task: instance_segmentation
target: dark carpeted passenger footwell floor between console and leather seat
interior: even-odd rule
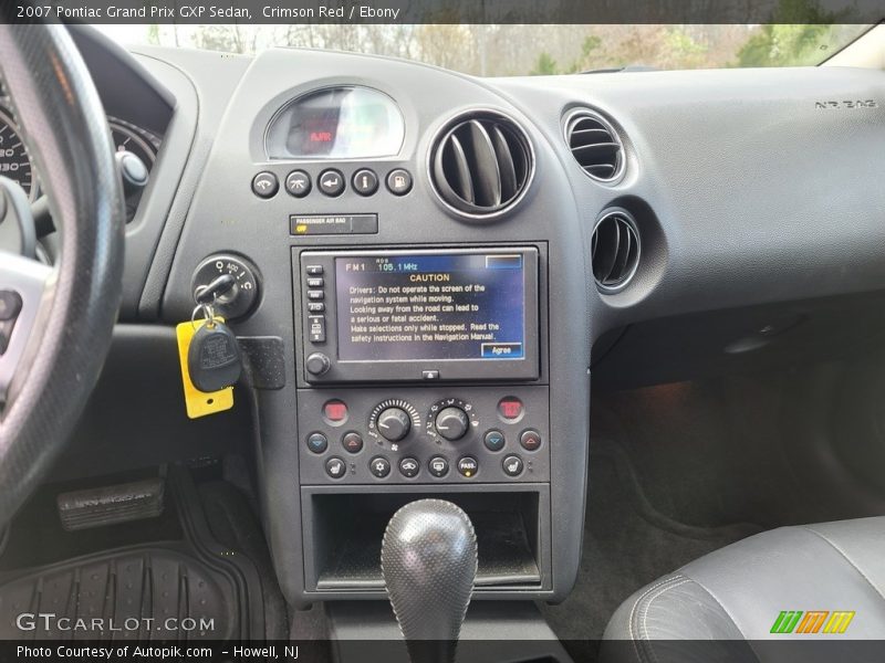
[[[629,594],[758,532],[820,519],[781,450],[777,380],[666,385],[596,397],[584,548],[571,596],[542,606],[592,661]],[[816,517],[815,517],[816,516]]]

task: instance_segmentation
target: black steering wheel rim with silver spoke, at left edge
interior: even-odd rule
[[[67,30],[0,8],[0,78],[61,234],[56,265],[0,252],[0,527],[72,432],[111,347],[125,212],[105,113]],[[10,313],[11,312],[11,313]]]

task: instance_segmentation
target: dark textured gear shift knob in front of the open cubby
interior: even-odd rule
[[[451,663],[477,575],[477,537],[451,502],[397,511],[381,548],[387,596],[412,663]]]

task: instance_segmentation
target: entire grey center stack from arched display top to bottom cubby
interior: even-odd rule
[[[548,129],[485,84],[342,53],[262,53],[229,99],[163,311],[187,319],[204,270],[248,295],[219,311],[291,604],[385,599],[385,526],[428,496],[473,524],[475,598],[568,596],[589,248]]]

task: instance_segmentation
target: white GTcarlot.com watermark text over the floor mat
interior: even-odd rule
[[[101,617],[70,618],[58,617],[54,612],[22,612],[15,618],[15,625],[20,631],[61,631],[82,633],[119,633],[119,632],[149,632],[149,631],[197,631],[208,633],[215,631],[215,618],[185,617],[178,619],[154,619],[129,617],[124,620],[105,619]]]

